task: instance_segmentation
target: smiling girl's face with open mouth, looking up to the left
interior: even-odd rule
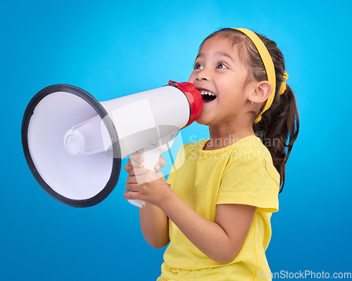
[[[218,35],[207,39],[189,77],[203,96],[203,113],[197,122],[208,126],[239,122],[251,104],[253,87],[247,81],[248,74],[239,60],[237,45]]]

